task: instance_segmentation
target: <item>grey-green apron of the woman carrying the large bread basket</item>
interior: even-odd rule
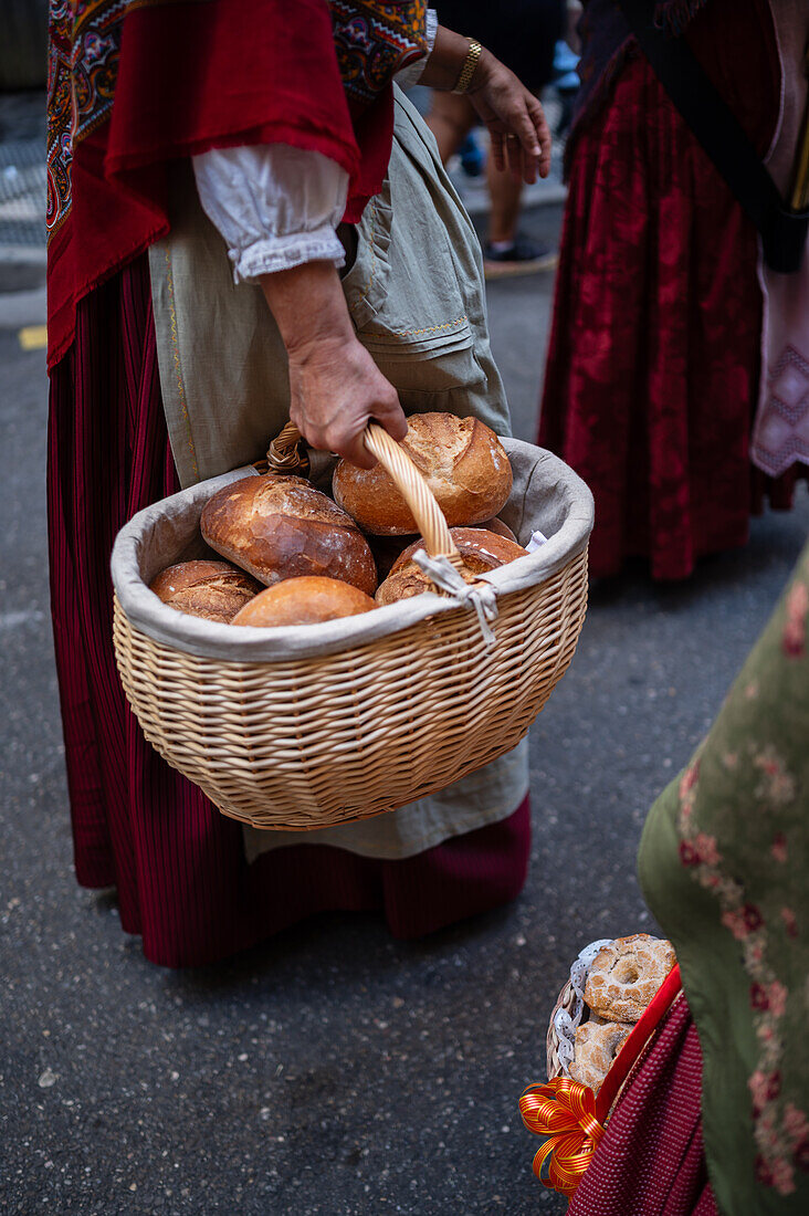
[[[170,235],[150,250],[150,269],[165,420],[185,488],[260,458],[288,421],[290,387],[264,295],[254,285],[234,283],[187,163],[174,174],[170,219]],[[489,348],[478,240],[432,135],[398,89],[388,176],[355,236],[345,299],[359,339],[405,413],[472,415],[511,434]],[[505,818],[527,790],[523,741],[440,794],[375,820],[307,833],[246,828],[246,851],[253,860],[305,841],[408,857]]]

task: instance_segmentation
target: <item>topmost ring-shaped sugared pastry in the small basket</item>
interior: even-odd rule
[[[635,933],[596,955],[584,1000],[608,1021],[637,1021],[676,963],[670,941]]]

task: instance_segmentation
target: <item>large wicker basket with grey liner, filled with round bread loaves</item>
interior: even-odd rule
[[[584,483],[478,420],[408,421],[401,444],[369,424],[372,469],[310,461],[290,424],[266,472],[201,482],[118,535],[124,691],[225,815],[313,829],[443,789],[519,742],[573,657]]]

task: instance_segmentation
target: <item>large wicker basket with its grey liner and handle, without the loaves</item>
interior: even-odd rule
[[[375,424],[366,443],[421,525],[429,556],[459,561],[410,458]],[[592,497],[549,452],[502,440],[515,490],[501,513],[535,553],[487,575],[499,609],[425,595],[297,629],[219,625],[148,590],[200,556],[207,500],[252,467],[147,507],[112,557],[116,658],[146,738],[224,815],[302,831],[366,818],[444,789],[513,748],[566,671],[586,607]],[[489,593],[490,595],[490,593]]]

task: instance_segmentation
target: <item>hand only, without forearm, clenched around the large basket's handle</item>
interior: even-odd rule
[[[292,347],[290,417],[313,447],[360,468],[376,465],[363,443],[370,418],[394,439],[408,434],[397,390],[354,334]]]

